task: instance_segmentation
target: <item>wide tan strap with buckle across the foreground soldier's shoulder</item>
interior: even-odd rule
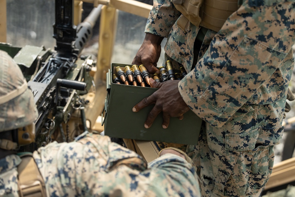
[[[17,167],[19,178],[19,196],[39,197],[46,196],[45,183],[35,163],[32,154],[21,156],[22,162]]]

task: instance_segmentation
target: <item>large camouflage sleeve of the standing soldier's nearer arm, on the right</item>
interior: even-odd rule
[[[191,110],[222,126],[281,67],[295,41],[294,18],[291,2],[244,1],[178,84]]]

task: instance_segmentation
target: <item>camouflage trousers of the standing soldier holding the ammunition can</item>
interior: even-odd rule
[[[283,71],[282,78],[289,80],[293,68],[291,50],[277,69],[277,76]],[[258,89],[222,127],[203,122],[196,146],[158,145],[186,150],[198,168],[202,196],[260,196],[273,170],[274,145],[280,143],[283,134],[286,95],[280,92],[287,88],[281,86],[276,100],[261,98],[262,90]]]

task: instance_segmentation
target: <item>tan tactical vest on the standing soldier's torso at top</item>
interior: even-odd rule
[[[176,9],[192,24],[216,32],[220,30],[227,18],[238,9],[238,0],[172,0],[172,2]],[[184,24],[184,21],[181,23]]]

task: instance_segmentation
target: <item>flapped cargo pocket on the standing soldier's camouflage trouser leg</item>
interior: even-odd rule
[[[243,134],[225,134],[225,151],[214,193],[249,196],[261,191],[273,167],[273,146],[280,143],[283,127],[257,128]]]

